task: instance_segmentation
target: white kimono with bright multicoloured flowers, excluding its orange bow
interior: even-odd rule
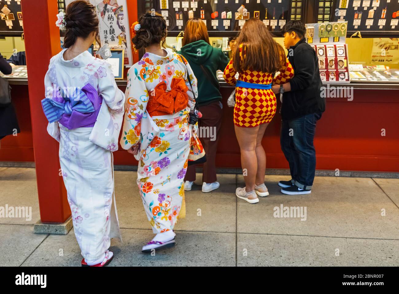
[[[187,60],[167,52],[165,57],[146,53],[130,68],[120,140],[124,149],[140,144],[135,156],[139,161],[137,185],[154,233],[173,230],[182,209],[192,131],[188,118],[195,104],[193,91],[197,97],[197,79]],[[150,117],[146,111],[149,92],[160,82],[166,82],[166,91],[170,91],[172,78],[186,81],[188,106],[174,114]]]

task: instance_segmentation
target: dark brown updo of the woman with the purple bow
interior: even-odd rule
[[[67,6],[65,11],[65,37],[64,48],[69,48],[75,44],[76,39],[87,38],[91,32],[96,32],[96,41],[100,43],[98,36],[99,19],[95,7],[85,0],[76,0]]]

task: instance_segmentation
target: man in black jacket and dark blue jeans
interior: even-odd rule
[[[306,43],[304,24],[291,20],[282,32],[294,77],[288,83],[272,88],[275,94],[283,94],[280,144],[291,173],[291,180],[280,181],[279,186],[284,194],[310,194],[316,170],[314,132],[316,122],[326,108],[326,99],[320,95],[322,81],[318,58]]]

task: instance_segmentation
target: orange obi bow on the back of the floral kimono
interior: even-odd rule
[[[188,104],[186,94],[188,87],[182,78],[173,78],[170,91],[166,91],[166,83],[160,82],[155,87],[155,96],[150,96],[147,111],[150,116],[176,113]],[[151,91],[150,91],[151,92]]]

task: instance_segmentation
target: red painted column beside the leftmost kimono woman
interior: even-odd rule
[[[57,1],[21,3],[40,219],[42,222],[64,222],[71,216],[71,210],[59,175],[59,144],[47,134],[47,119],[40,103],[45,98],[44,76],[49,60],[61,51],[59,29],[55,26]]]

